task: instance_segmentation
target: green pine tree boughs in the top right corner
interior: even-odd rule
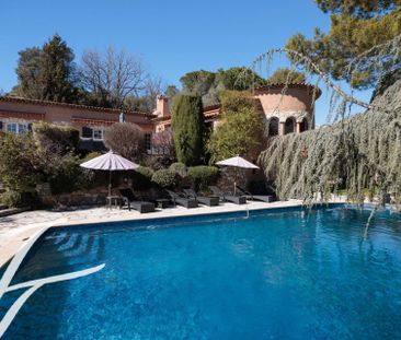
[[[287,48],[308,56],[334,79],[359,89],[374,86],[383,73],[400,67],[400,51],[381,48],[377,49],[380,55],[370,52],[369,61],[353,65],[353,72],[348,70],[356,57],[401,34],[400,0],[317,0],[317,3],[332,13],[329,33],[316,28],[312,39],[297,34],[287,42]],[[375,58],[381,60],[380,67],[370,62]]]

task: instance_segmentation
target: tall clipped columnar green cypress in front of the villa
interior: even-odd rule
[[[179,162],[197,165],[204,159],[205,120],[202,97],[180,94],[172,105],[172,129]]]

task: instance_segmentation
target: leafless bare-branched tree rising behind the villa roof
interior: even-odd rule
[[[90,50],[83,55],[80,80],[96,105],[122,108],[128,96],[144,91],[148,73],[139,58],[110,47],[105,54]]]

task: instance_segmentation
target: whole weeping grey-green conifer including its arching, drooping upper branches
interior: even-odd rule
[[[375,46],[352,60],[347,68],[350,77],[353,68],[357,73],[374,72],[373,79],[381,77],[370,104],[345,93],[316,62],[298,51],[271,49],[253,61],[255,71],[264,62],[268,68],[274,54],[286,54],[294,68],[302,66],[307,74],[318,74],[318,82],[322,80],[332,93],[328,119],[334,114],[335,124],[270,139],[260,155],[259,161],[267,177],[275,180],[280,199],[299,198],[312,204],[342,189],[353,202],[362,203],[368,198],[383,203],[390,194],[393,203],[401,204],[400,43],[401,36]],[[386,79],[387,75],[391,77]],[[285,84],[283,96],[287,87]],[[351,117],[352,105],[367,112]]]

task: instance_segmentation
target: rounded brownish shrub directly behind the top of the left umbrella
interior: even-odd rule
[[[145,151],[145,134],[136,124],[117,122],[106,129],[104,144],[128,160],[138,160]]]

